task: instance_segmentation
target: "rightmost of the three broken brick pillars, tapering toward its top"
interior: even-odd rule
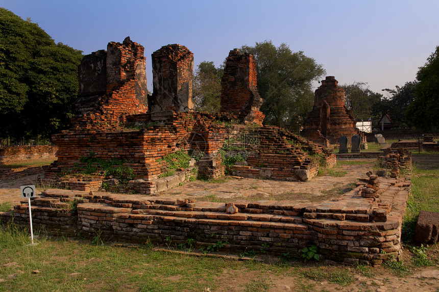
[[[261,105],[253,55],[241,54],[238,49],[231,50],[221,80],[220,112],[240,113],[243,122],[261,124],[264,119],[259,111]]]

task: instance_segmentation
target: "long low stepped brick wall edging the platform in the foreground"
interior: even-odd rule
[[[50,234],[163,244],[197,238],[198,246],[222,241],[222,251],[264,249],[274,255],[316,244],[324,258],[381,264],[401,255],[401,225],[410,188],[404,178],[380,177],[376,195],[364,197],[365,178],[337,200],[194,202],[176,198],[46,190],[32,201],[36,228]],[[370,187],[366,187],[370,188]],[[362,192],[363,191],[363,192]],[[66,204],[78,200],[77,214]],[[0,220],[26,225],[27,201]],[[232,210],[232,211],[230,211]],[[74,215],[73,215],[74,214]]]

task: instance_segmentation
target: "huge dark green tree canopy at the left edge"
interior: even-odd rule
[[[0,8],[0,138],[48,138],[68,125],[81,53]]]

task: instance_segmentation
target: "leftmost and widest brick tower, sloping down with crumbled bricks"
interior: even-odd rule
[[[143,49],[127,37],[123,43],[109,42],[107,50],[84,56],[78,67],[74,127],[111,128],[124,122],[126,115],[148,111]]]

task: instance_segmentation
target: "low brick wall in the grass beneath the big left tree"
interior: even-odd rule
[[[0,165],[11,164],[16,161],[26,160],[56,160],[57,146],[16,146],[0,148]]]

